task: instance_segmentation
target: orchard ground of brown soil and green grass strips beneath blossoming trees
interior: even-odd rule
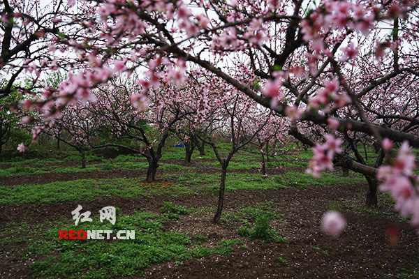
[[[65,150],[6,156],[0,278],[419,278],[418,236],[391,197],[380,194],[378,207],[366,208],[362,176],[335,169],[314,179],[304,174],[310,157],[300,150],[271,158],[264,179],[259,156],[238,153],[214,225],[221,167],[210,151],[184,165],[184,149],[167,147],[154,183],[145,183],[140,156],[92,152],[86,169]],[[93,222],[74,225],[78,204]],[[99,222],[105,206],[118,208],[115,225]],[[330,209],[348,222],[337,239],[320,227]],[[260,216],[270,220],[271,241],[251,237]],[[394,224],[401,235],[390,245]],[[66,241],[60,229],[133,229],[135,240]]]

